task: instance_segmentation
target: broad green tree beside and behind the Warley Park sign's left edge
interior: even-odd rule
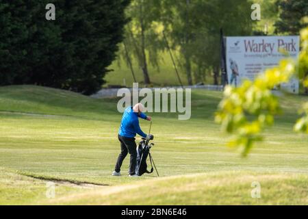
[[[227,36],[251,34],[251,3],[247,0],[181,0],[162,1],[166,33],[173,49],[181,54],[181,65],[188,83],[202,78],[205,72],[214,72],[218,84],[220,28]]]

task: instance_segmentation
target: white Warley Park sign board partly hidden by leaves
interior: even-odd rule
[[[227,75],[229,84],[238,86],[244,79],[254,80],[259,73],[279,64],[287,51],[294,59],[299,53],[299,36],[227,37]],[[299,81],[292,78],[281,84],[287,92],[298,94]]]

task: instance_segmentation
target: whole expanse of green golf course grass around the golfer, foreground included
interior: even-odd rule
[[[242,158],[225,146],[228,136],[213,122],[221,96],[194,91],[187,121],[177,120],[177,114],[152,114],[152,155],[161,177],[131,179],[129,159],[123,177],[110,176],[120,151],[116,99],[2,87],[0,204],[307,205],[308,137],[292,132],[307,97],[283,97],[285,114]],[[149,122],[140,125],[149,129]],[[55,198],[45,196],[47,181],[57,185]],[[253,181],[261,183],[258,200],[251,198]]]

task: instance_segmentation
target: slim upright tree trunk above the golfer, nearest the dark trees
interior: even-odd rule
[[[142,3],[140,3],[140,25],[141,25],[141,53],[142,53],[142,73],[144,76],[144,84],[151,83],[148,71],[148,64],[146,62],[146,50],[145,50],[145,36],[144,36],[144,21],[143,21],[143,7]]]

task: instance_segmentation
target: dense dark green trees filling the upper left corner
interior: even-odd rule
[[[55,21],[45,6],[55,4]],[[0,1],[0,83],[38,84],[91,94],[123,40],[121,1]]]

